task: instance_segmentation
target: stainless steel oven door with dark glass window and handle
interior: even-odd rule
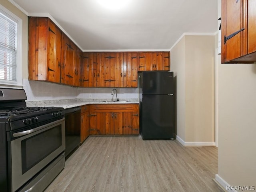
[[[11,180],[16,191],[65,150],[65,118],[12,134]]]

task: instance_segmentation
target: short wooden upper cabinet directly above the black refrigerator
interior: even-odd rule
[[[139,52],[138,71],[170,70],[170,52]]]

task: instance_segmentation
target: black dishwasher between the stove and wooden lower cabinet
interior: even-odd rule
[[[66,157],[80,145],[81,108],[65,109]]]

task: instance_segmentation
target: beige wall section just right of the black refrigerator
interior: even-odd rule
[[[184,35],[172,48],[177,79],[177,138],[185,146],[214,145],[213,35]]]

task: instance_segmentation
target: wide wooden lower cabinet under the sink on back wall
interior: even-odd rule
[[[90,105],[90,135],[138,134],[138,104]]]

